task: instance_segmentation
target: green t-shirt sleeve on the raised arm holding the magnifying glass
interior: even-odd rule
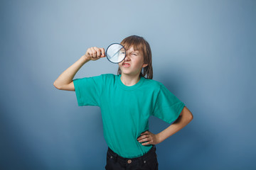
[[[85,77],[73,80],[78,106],[100,106],[103,77]]]

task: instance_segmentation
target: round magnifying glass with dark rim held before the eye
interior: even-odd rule
[[[126,56],[126,50],[124,49],[124,46],[113,43],[109,47],[107,47],[106,50],[107,60],[109,60],[112,63],[119,63],[124,60]]]

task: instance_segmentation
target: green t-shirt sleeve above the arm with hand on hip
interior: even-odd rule
[[[171,123],[178,118],[184,106],[182,101],[161,84],[152,115]]]

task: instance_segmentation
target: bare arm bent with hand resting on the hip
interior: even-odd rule
[[[178,118],[168,128],[159,132],[156,135],[147,130],[146,132],[143,132],[141,136],[138,137],[137,140],[139,142],[144,142],[142,143],[142,145],[159,144],[166,140],[171,135],[174,135],[176,132],[184,128],[186,125],[188,125],[188,123],[191,122],[191,120],[193,120],[193,115],[191,111],[189,111],[188,108],[186,108],[185,106],[181,111],[181,114],[178,116]]]

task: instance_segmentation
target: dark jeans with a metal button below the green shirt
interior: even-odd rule
[[[114,153],[110,147],[107,149],[107,170],[158,170],[156,146],[146,154],[136,158],[124,158]]]

